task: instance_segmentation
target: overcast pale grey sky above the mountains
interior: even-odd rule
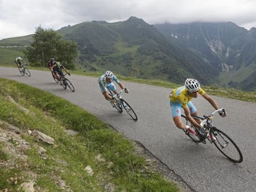
[[[255,0],[0,0],[0,40],[31,35],[36,27],[58,30],[92,20],[130,16],[148,24],[234,22],[256,27]]]

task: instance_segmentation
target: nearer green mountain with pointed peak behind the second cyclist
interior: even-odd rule
[[[218,71],[211,65],[136,17],[115,23],[84,22],[58,32],[64,39],[77,42],[79,62],[87,70],[113,70],[175,83],[187,77],[204,84],[217,81]]]

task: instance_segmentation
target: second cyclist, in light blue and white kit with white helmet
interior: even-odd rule
[[[104,75],[101,75],[98,80],[101,93],[103,94],[105,99],[107,99],[109,101],[112,100],[113,98],[108,94],[107,88],[109,88],[111,91],[113,91],[114,94],[117,93],[116,86],[114,85],[113,81],[115,81],[121,89],[125,89],[124,85],[122,85],[122,83],[117,79],[116,75],[114,75],[114,73],[109,70],[106,71],[106,73]],[[126,89],[126,90],[124,90],[124,92],[129,93],[129,90]]]

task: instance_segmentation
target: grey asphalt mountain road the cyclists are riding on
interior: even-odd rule
[[[129,88],[123,98],[134,108],[139,120],[126,112],[119,114],[100,93],[98,79],[71,75],[75,92],[56,84],[50,72],[30,70],[22,77],[17,69],[0,67],[0,77],[16,80],[61,96],[109,123],[130,140],[139,141],[166,164],[194,191],[256,191],[256,104],[213,96],[228,117],[216,116],[214,124],[226,132],[242,151],[244,161],[235,164],[213,144],[197,144],[175,127],[170,107],[169,89],[122,81]],[[200,115],[213,112],[201,96],[193,100]]]

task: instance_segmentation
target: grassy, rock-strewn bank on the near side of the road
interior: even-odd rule
[[[53,94],[0,78],[0,120],[6,123],[0,138],[7,123],[21,131],[20,140],[17,134],[7,143],[0,140],[0,191],[22,191],[25,182],[36,191],[179,191],[148,169],[129,140]],[[36,140],[28,130],[45,133],[54,144]]]

